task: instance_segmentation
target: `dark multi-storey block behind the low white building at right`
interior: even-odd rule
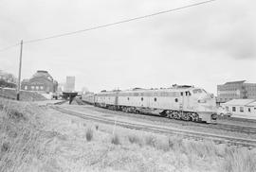
[[[232,99],[256,99],[256,83],[240,80],[217,85],[218,103],[225,103]]]

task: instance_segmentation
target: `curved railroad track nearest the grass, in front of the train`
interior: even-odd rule
[[[146,124],[133,124],[129,122],[123,122],[123,121],[115,121],[114,119],[108,119],[104,117],[99,116],[93,116],[89,114],[84,114],[82,112],[74,112],[71,110],[66,110],[61,107],[57,106],[50,106],[50,108],[58,111],[63,112],[68,115],[77,116],[86,120],[93,120],[96,122],[114,125],[116,124],[119,127],[127,128],[127,129],[139,129],[149,132],[155,132],[155,133],[163,133],[163,134],[178,134],[182,135],[188,138],[193,139],[204,139],[204,140],[211,140],[215,143],[227,143],[228,145],[232,146],[247,146],[247,147],[256,147],[256,140],[251,139],[244,139],[244,138],[238,138],[238,137],[230,137],[230,136],[224,136],[224,135],[217,135],[217,134],[210,134],[205,132],[197,132],[192,130],[184,130],[184,129],[169,129],[164,127],[156,127],[152,125],[146,125]]]

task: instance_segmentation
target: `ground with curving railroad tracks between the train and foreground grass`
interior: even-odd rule
[[[91,105],[82,105],[81,100],[75,99],[74,104],[67,105],[64,101],[60,105],[50,106],[64,114],[78,116],[85,120],[92,120],[103,124],[117,125],[122,128],[139,129],[167,135],[182,135],[194,140],[211,140],[217,144],[229,146],[256,147],[256,121],[236,121],[218,119],[216,124],[194,123],[155,116],[154,114],[135,114],[117,112]],[[81,104],[81,105],[78,105]]]

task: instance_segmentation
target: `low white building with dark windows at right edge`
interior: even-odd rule
[[[233,117],[256,118],[255,99],[232,99],[221,104],[221,107],[232,113]]]

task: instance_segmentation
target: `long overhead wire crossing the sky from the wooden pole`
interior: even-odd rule
[[[129,23],[129,22],[145,19],[145,18],[154,17],[156,15],[160,15],[160,14],[164,14],[164,13],[173,12],[175,10],[189,9],[189,8],[200,6],[200,5],[203,5],[203,4],[207,4],[207,3],[210,3],[210,2],[213,2],[213,1],[216,1],[216,0],[203,1],[203,2],[199,2],[199,3],[194,3],[194,4],[191,4],[191,5],[183,6],[183,7],[180,7],[180,8],[163,10],[163,11],[155,12],[155,13],[152,13],[152,14],[142,15],[142,16],[138,16],[138,17],[134,17],[134,18],[130,18],[130,19],[125,19],[125,20],[122,20],[122,21],[119,21],[119,22],[105,24],[105,25],[102,25],[102,26],[92,26],[92,27],[81,29],[81,30],[76,30],[76,31],[72,31],[72,32],[65,32],[65,33],[61,33],[61,34],[52,35],[52,36],[45,37],[45,38],[38,38],[38,39],[28,40],[28,41],[24,41],[24,44],[25,43],[42,42],[42,41],[49,40],[49,39],[55,39],[55,38],[59,38],[59,37],[64,37],[64,36],[68,36],[68,35],[74,35],[74,34],[86,32],[86,31],[96,30],[96,29],[99,29],[99,28],[102,28],[102,27],[116,26],[116,25],[120,25],[120,24],[124,24],[124,23]],[[12,46],[9,46],[7,48],[1,49],[0,52],[4,51],[4,50],[7,50],[7,49],[9,49],[13,46],[17,46],[17,45],[19,45],[19,43],[15,44],[15,45],[12,45]]]

